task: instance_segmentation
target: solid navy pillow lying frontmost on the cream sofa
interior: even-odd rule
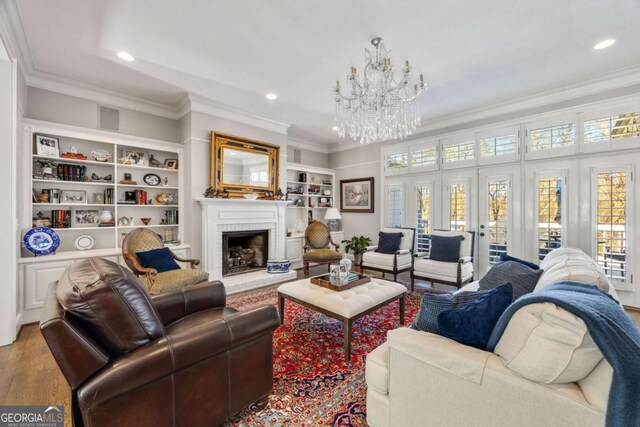
[[[462,308],[445,310],[438,315],[436,333],[461,344],[487,348],[487,343],[502,313],[511,305],[511,283],[482,294]]]

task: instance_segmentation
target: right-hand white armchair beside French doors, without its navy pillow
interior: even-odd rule
[[[460,242],[460,257],[453,262],[436,261],[426,257],[426,252],[416,253],[411,268],[411,290],[415,279],[428,280],[431,283],[461,286],[473,280],[473,248],[475,244],[474,231],[433,230],[432,236],[455,237],[462,236]]]

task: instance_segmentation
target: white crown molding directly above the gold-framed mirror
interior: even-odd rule
[[[244,123],[250,126],[255,126],[283,135],[287,134],[287,129],[289,129],[290,126],[289,123],[274,120],[260,114],[231,107],[229,105],[224,105],[212,99],[196,95],[194,93],[189,93],[188,97],[191,111],[210,114],[212,116],[221,117],[223,119],[232,120],[234,122]],[[181,102],[181,104],[185,104],[186,106],[186,101],[184,103]],[[183,106],[180,110],[185,111],[185,106]]]

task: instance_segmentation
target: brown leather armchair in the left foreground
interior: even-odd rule
[[[124,267],[78,261],[49,286],[40,330],[76,426],[215,426],[266,405],[273,306],[226,307],[220,282],[151,297]]]

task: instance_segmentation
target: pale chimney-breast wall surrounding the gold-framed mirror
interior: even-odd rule
[[[191,245],[194,258],[201,258],[202,218],[200,204],[195,198],[201,197],[209,187],[209,165],[211,159],[211,131],[237,135],[243,138],[263,141],[280,147],[280,187],[286,180],[287,136],[255,126],[223,119],[209,114],[192,111],[180,119],[180,135],[188,135],[185,142],[185,236]]]

